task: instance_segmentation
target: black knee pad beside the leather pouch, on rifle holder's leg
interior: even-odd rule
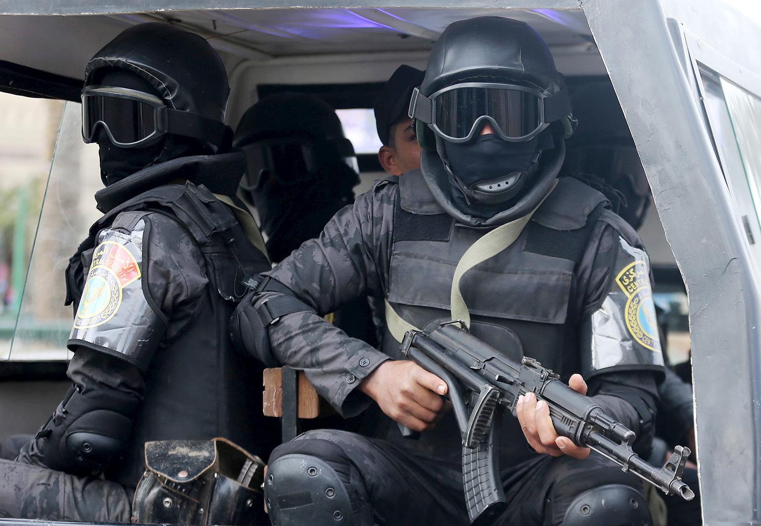
[[[264,499],[274,526],[355,526],[349,493],[316,457],[285,454],[269,464]]]

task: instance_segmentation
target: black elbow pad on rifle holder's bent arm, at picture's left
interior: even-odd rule
[[[234,347],[267,367],[282,365],[272,354],[267,332],[269,326],[278,323],[281,317],[288,314],[314,312],[314,309],[286,291],[290,292],[274,279],[266,278],[238,304],[230,319],[230,337]],[[265,296],[266,292],[270,294]]]

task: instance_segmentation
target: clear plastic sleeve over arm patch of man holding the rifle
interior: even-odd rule
[[[581,330],[582,375],[607,368],[664,365],[644,250],[619,237],[610,290]]]

